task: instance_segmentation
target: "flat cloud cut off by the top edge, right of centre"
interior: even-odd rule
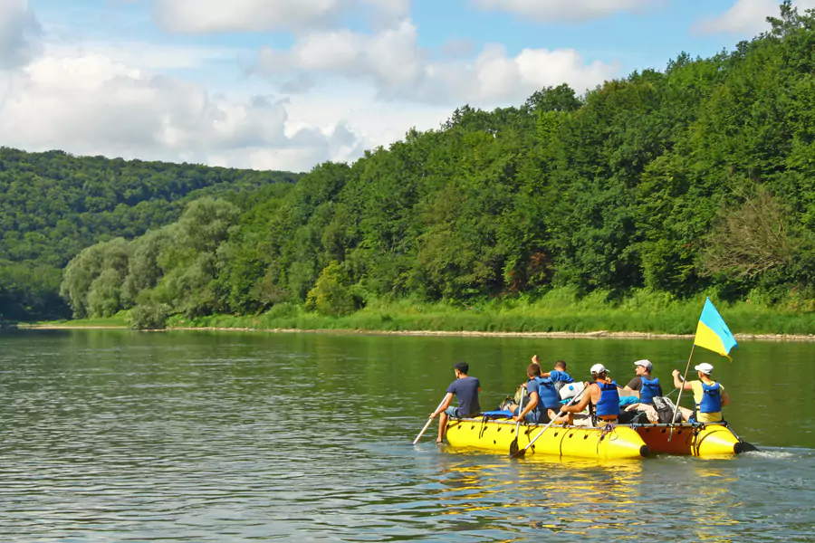
[[[484,11],[502,11],[534,21],[589,21],[637,11],[655,0],[470,0]]]

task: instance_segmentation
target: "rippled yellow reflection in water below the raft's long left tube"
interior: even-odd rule
[[[532,456],[512,460],[462,449],[440,454],[433,491],[440,514],[469,525],[479,518],[512,519],[513,525],[586,536],[618,530],[637,515],[641,461],[593,461]],[[444,456],[459,454],[460,462]],[[473,460],[479,459],[478,463]]]

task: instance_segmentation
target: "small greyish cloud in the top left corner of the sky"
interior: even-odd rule
[[[39,30],[27,0],[0,0],[0,71],[24,66],[34,56]]]

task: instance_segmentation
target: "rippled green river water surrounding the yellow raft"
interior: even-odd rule
[[[411,444],[458,360],[492,408],[534,353],[624,384],[639,358],[668,380],[690,343],[4,333],[0,540],[815,540],[815,344],[696,349],[761,450],[731,460],[511,460],[437,447],[436,424]]]

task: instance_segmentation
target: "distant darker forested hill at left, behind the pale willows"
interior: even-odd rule
[[[0,318],[70,315],[59,296],[62,268],[93,243],[172,223],[204,195],[239,202],[297,177],[0,148]]]

